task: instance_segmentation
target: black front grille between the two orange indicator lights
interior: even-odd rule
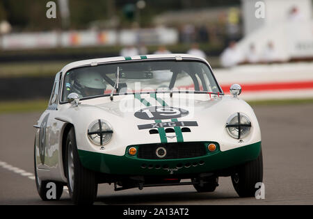
[[[166,149],[166,156],[157,156],[157,149]],[[207,154],[204,143],[166,143],[140,145],[138,147],[139,159],[186,159]],[[159,155],[163,155],[163,149],[159,149]]]

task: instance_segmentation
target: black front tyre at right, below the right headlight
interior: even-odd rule
[[[232,174],[232,185],[239,197],[255,197],[255,184],[263,180],[262,150],[254,161],[249,161],[236,168]]]

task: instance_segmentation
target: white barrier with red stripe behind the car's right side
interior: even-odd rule
[[[226,94],[239,83],[246,100],[313,98],[313,62],[242,65],[214,74]]]

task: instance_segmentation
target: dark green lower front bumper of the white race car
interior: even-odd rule
[[[214,172],[257,159],[261,141],[225,152],[217,150],[188,159],[138,159],[125,154],[115,156],[79,150],[79,158],[85,168],[113,175],[188,175]]]

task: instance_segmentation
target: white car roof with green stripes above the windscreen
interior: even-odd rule
[[[114,62],[120,62],[120,61],[129,61],[129,60],[147,60],[147,59],[161,59],[161,58],[176,58],[177,60],[184,60],[184,58],[192,58],[192,59],[198,59],[203,60],[205,63],[207,63],[207,60],[204,58],[198,57],[198,56],[191,56],[188,54],[153,54],[153,55],[144,55],[144,56],[116,56],[116,57],[109,57],[109,58],[93,58],[88,60],[80,60],[73,63],[69,63],[63,67],[61,72],[67,72],[71,70],[72,68],[76,67],[83,67],[83,66],[94,66],[99,65],[103,63],[114,63]],[[209,64],[209,63],[207,63]]]

